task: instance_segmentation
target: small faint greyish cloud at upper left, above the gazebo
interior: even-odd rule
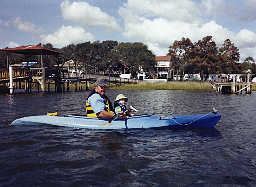
[[[16,17],[13,21],[14,27],[20,31],[27,31],[27,32],[42,32],[42,28],[36,28],[34,24],[26,21],[22,21],[22,18]]]

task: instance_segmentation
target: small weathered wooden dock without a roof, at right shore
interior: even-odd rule
[[[217,81],[209,81],[216,93],[224,93],[224,94],[240,94],[245,91],[246,94],[252,93],[252,75],[248,73],[247,75],[240,75],[238,79],[238,75],[232,74],[230,75],[218,75]]]

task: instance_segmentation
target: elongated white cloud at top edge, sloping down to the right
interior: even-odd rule
[[[119,31],[117,20],[86,2],[63,1],[60,4],[62,17],[75,21],[83,26],[102,26],[110,30]]]

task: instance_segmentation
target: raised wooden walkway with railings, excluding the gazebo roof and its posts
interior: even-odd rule
[[[75,91],[77,90],[77,83],[80,90],[82,84],[86,85],[86,90],[89,89],[90,84],[98,79],[104,80],[107,84],[110,85],[121,85],[121,84],[136,84],[139,80],[137,79],[126,79],[119,77],[111,77],[105,75],[97,74],[86,74],[86,73],[76,73],[63,71],[59,74],[57,69],[53,68],[30,68],[30,71],[27,71],[27,67],[24,68],[13,68],[13,82],[24,81],[25,90],[30,90],[31,92],[31,83],[41,84],[41,91],[45,92],[46,84],[48,84],[48,91],[50,80],[53,80],[55,83],[55,91],[65,91],[65,82],[67,85],[67,91],[69,90],[69,84],[75,84]],[[48,81],[47,81],[48,80]],[[10,82],[9,68],[0,69],[0,84],[5,84]],[[20,84],[19,84],[20,88]]]

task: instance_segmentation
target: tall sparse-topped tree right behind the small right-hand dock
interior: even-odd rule
[[[219,48],[219,54],[222,59],[220,64],[222,73],[239,73],[237,66],[240,60],[239,49],[229,39]]]

